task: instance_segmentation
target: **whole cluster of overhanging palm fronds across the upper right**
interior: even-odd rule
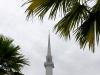
[[[68,38],[74,31],[81,48],[88,44],[89,49],[95,51],[100,34],[100,0],[28,0],[25,4],[29,4],[28,18],[37,15],[42,20],[48,11],[50,19],[56,19],[57,13],[63,14],[54,27],[56,32]]]

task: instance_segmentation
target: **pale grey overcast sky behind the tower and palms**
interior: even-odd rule
[[[26,21],[26,7],[22,0],[0,0],[0,33],[15,40],[30,66],[25,66],[25,75],[45,75],[45,56],[47,52],[48,32],[51,32],[51,49],[54,61],[53,75],[100,75],[100,46],[93,54],[84,51],[72,38],[70,41],[59,38],[52,31],[58,21],[44,22],[34,18]]]

